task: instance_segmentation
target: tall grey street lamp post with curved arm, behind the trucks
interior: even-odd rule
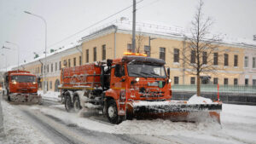
[[[44,94],[46,93],[46,89],[45,89],[45,85],[46,85],[46,72],[44,70],[44,67],[46,67],[46,63],[47,63],[47,60],[46,60],[46,49],[47,49],[47,23],[46,23],[46,20],[44,19],[44,17],[38,15],[38,14],[32,14],[31,12],[28,12],[28,11],[24,11],[24,13],[26,14],[31,14],[35,17],[38,17],[40,20],[43,20],[44,21],[44,25],[45,25],[45,49],[44,49],[44,54],[45,54],[45,57],[44,57],[44,66],[42,67],[43,68],[43,73],[42,73],[42,78],[43,78],[43,84],[44,84]],[[45,81],[45,82],[44,82]]]

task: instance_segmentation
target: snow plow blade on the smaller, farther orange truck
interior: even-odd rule
[[[41,104],[42,96],[38,94],[10,94],[10,101],[19,104]]]

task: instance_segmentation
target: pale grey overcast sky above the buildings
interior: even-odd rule
[[[139,2],[140,0],[137,0]],[[256,0],[204,0],[204,14],[212,17],[213,33],[224,33],[229,37],[253,39],[256,34]],[[132,20],[131,9],[86,30],[62,43],[63,38],[125,9],[132,0],[0,0],[0,54],[7,55],[7,65],[17,64],[15,45],[20,46],[20,62],[33,59],[33,52],[43,54],[44,22],[23,11],[44,17],[48,28],[49,49],[76,42],[80,37],[120,17]],[[188,28],[195,14],[197,0],[143,0],[137,4],[138,22],[160,22],[170,26]],[[5,67],[5,58],[0,55],[0,69]]]

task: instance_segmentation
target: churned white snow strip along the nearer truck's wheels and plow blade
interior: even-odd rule
[[[62,106],[64,109],[64,106]],[[81,113],[68,113],[49,107],[33,107],[38,111],[60,118],[67,124],[77,124],[88,130],[114,134],[175,136],[192,143],[256,143],[256,107],[223,104],[221,125],[212,119],[201,123],[172,122],[170,120],[126,120],[118,125],[99,123],[84,118]]]

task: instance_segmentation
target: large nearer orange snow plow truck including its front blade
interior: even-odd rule
[[[164,60],[126,53],[119,59],[63,68],[61,97],[69,111],[82,107],[106,114],[112,124],[126,118],[170,118],[193,121],[204,112],[219,122],[221,102],[189,104],[172,101],[170,69]]]

